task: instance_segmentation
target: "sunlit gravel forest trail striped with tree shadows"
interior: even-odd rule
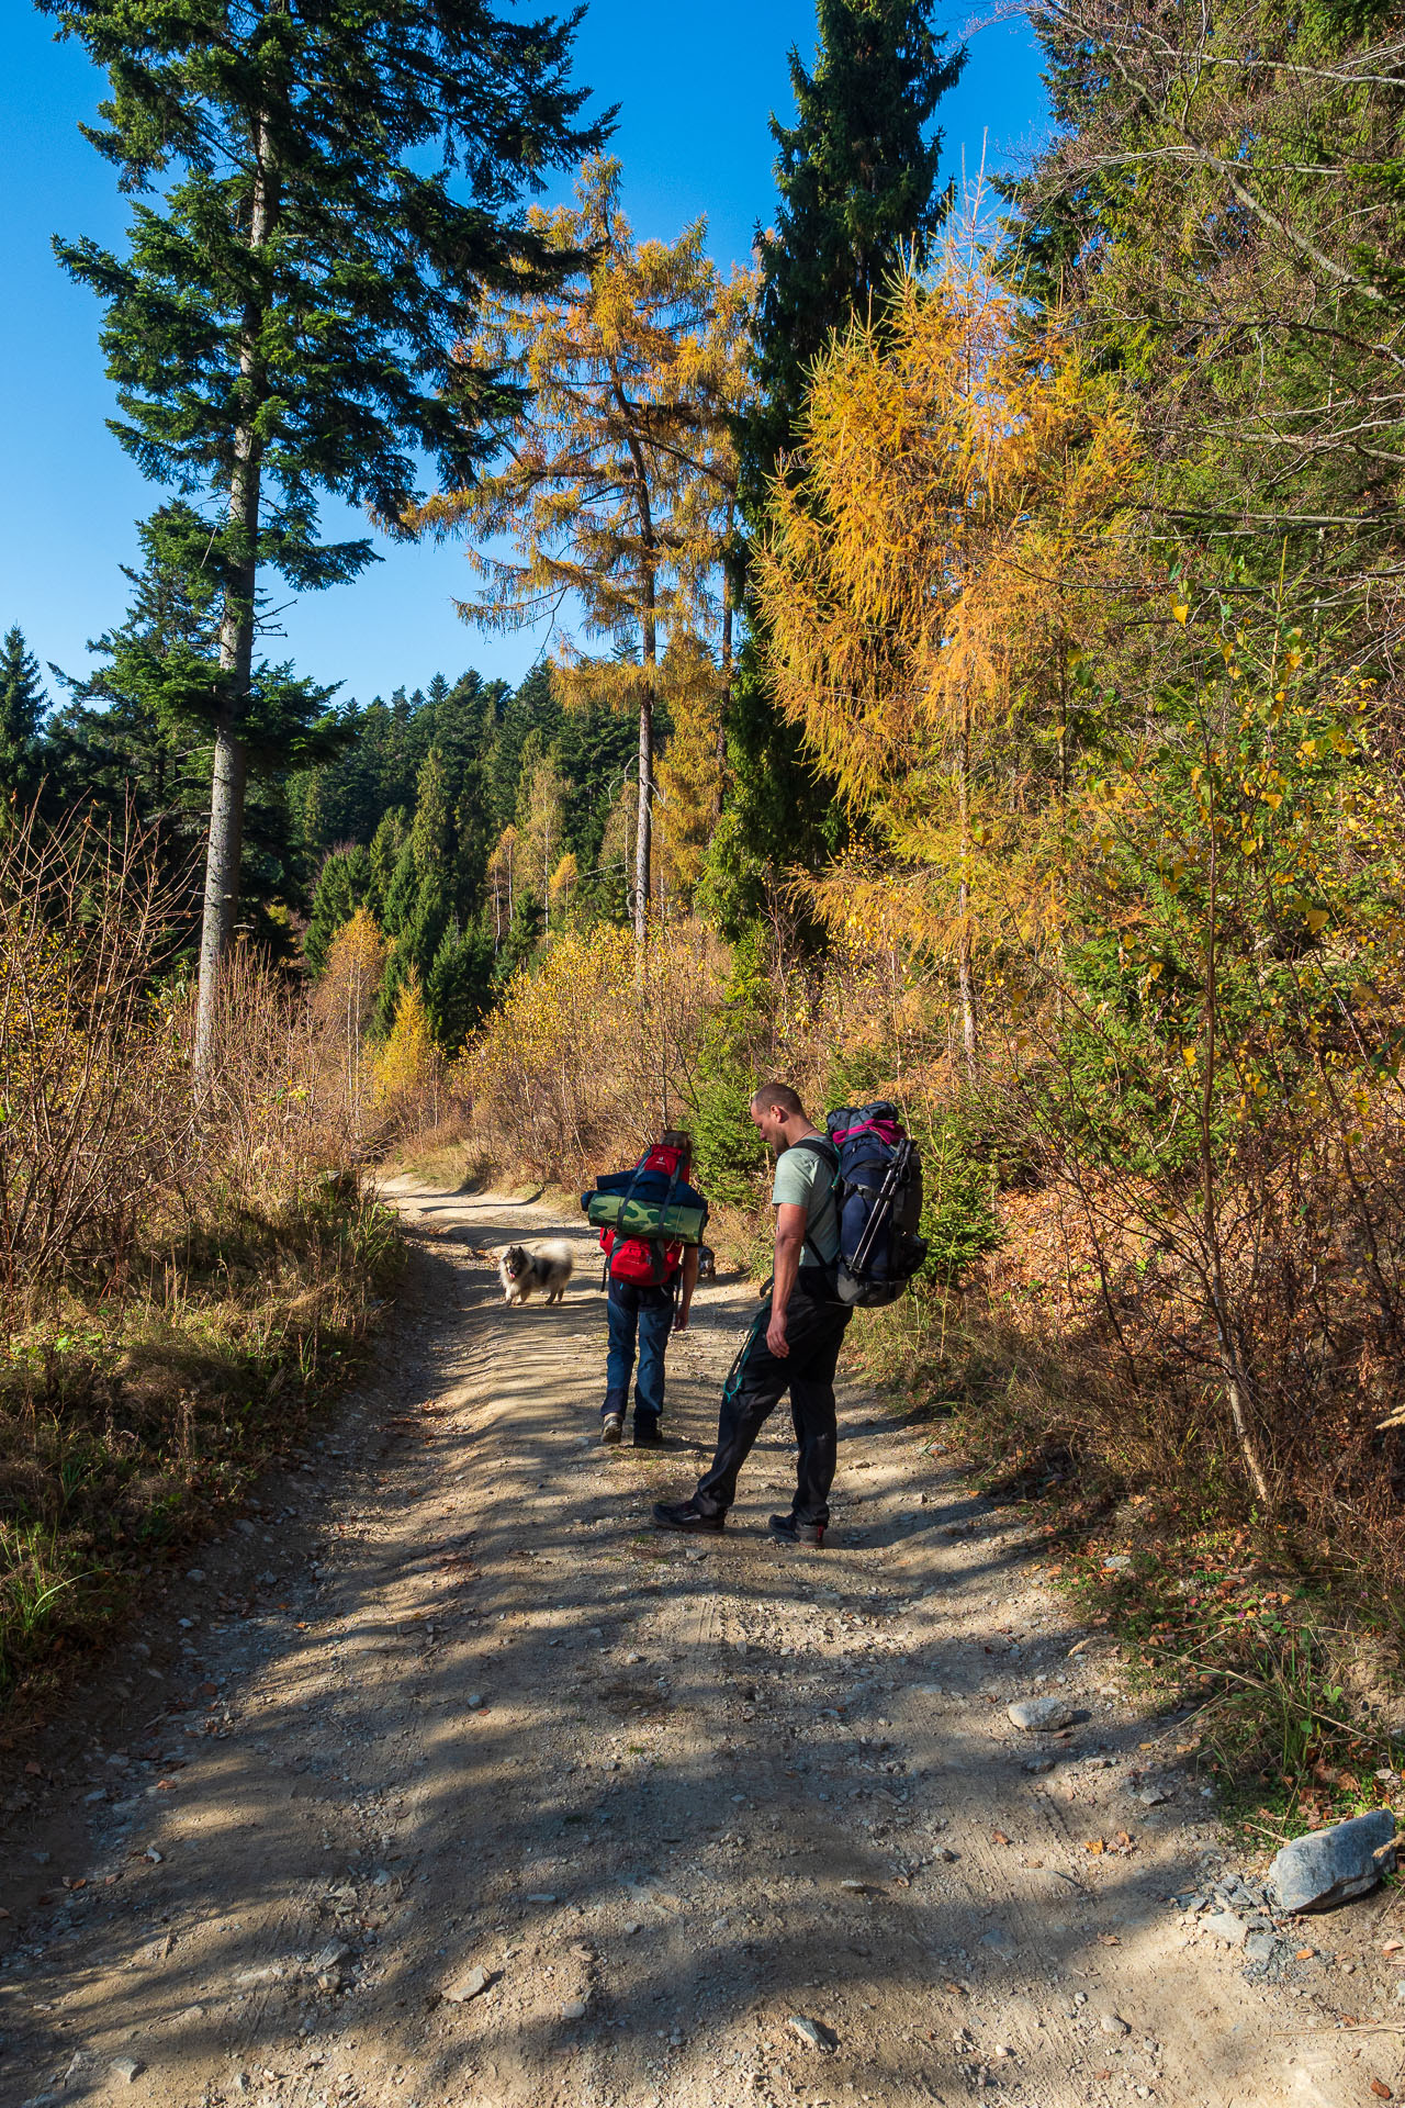
[[[1392,1899],[1281,1982],[1192,1929],[1169,1897],[1230,1861],[1175,1724],[1070,1655],[929,1425],[849,1389],[822,1554],[765,1535],[784,1414],[729,1533],[661,1537],[746,1284],[674,1341],[670,1446],[602,1450],[586,1237],[565,1307],[510,1311],[489,1248],[558,1218],[390,1191],[375,1364],[11,1794],[6,2108],[1399,2095],[1399,2032],[1340,2030]],[[1005,1710],[1045,1689],[1083,1714],[1049,1748]]]

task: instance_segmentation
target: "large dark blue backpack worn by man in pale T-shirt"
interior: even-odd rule
[[[826,1140],[811,1136],[794,1147],[813,1149],[834,1166],[834,1296],[851,1307],[878,1309],[897,1301],[927,1258],[927,1240],[918,1235],[923,1159],[887,1098],[840,1105],[826,1113],[824,1124]]]

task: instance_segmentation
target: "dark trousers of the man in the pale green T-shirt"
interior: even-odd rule
[[[716,1457],[697,1482],[693,1501],[704,1516],[725,1516],[737,1497],[737,1471],[777,1404],[790,1391],[790,1419],[800,1455],[796,1461],[796,1522],[830,1520],[830,1486],[834,1484],[834,1368],[851,1309],[824,1301],[824,1277],[800,1271],[786,1307],[786,1339],[790,1353],[777,1358],[767,1347],[771,1303],[763,1303],[746,1347],[737,1355],[723,1387],[723,1412],[716,1429]]]

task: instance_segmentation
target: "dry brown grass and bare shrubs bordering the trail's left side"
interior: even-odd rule
[[[295,1438],[398,1258],[345,1035],[244,953],[192,1088],[169,909],[137,837],[0,841],[0,1701]]]

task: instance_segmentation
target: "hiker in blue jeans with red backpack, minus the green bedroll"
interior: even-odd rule
[[[691,1136],[670,1128],[642,1157],[638,1170],[659,1172],[674,1187],[691,1193]],[[697,1197],[697,1195],[693,1195]],[[630,1404],[630,1374],[638,1343],[638,1379],[634,1383],[634,1448],[661,1448],[664,1436],[664,1353],[670,1332],[687,1332],[693,1290],[697,1288],[697,1246],[642,1237],[619,1237],[600,1231],[609,1269],[609,1353],[605,1364],[605,1404],[600,1406],[600,1440],[624,1440],[624,1417]]]

